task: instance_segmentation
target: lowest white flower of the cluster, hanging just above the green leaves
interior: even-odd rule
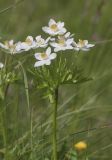
[[[35,58],[38,60],[34,67],[39,67],[43,65],[50,65],[51,60],[56,58],[56,53],[51,53],[51,48],[47,48],[45,52],[35,53]]]

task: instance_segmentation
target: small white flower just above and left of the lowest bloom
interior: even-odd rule
[[[50,37],[48,37],[46,40],[44,40],[41,35],[37,36],[35,41],[34,48],[46,48],[48,46],[48,41],[50,40]]]

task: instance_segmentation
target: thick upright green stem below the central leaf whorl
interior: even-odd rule
[[[58,103],[58,89],[54,92],[53,101],[53,160],[57,160],[57,103]]]

